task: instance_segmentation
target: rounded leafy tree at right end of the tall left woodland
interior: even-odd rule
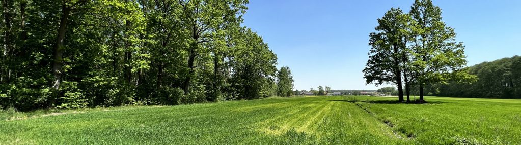
[[[231,64],[234,69],[231,87],[237,89],[240,99],[268,97],[262,91],[274,82],[277,56],[269,50],[262,37],[249,28],[241,28],[240,34]]]

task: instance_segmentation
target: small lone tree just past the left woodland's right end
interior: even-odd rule
[[[281,67],[277,73],[278,94],[282,97],[289,97],[293,90],[293,75],[289,67]]]

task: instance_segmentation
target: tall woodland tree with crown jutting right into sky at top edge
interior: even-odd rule
[[[204,56],[208,50],[202,46],[212,41],[212,33],[226,23],[241,22],[241,19],[230,19],[242,17],[245,12],[247,1],[184,1],[179,0],[183,12],[182,19],[187,22],[185,27],[190,32],[190,45],[188,47],[188,73],[183,82],[183,90],[189,93],[190,82],[195,73],[197,57]],[[215,56],[216,53],[214,53]]]

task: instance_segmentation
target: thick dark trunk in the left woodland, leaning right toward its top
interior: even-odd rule
[[[54,89],[59,89],[61,81],[61,67],[63,65],[63,53],[64,53],[64,40],[65,31],[67,30],[67,21],[69,19],[70,8],[65,4],[61,6],[61,18],[60,25],[58,27],[58,36],[56,39],[56,46],[54,47],[54,61],[53,61],[53,74],[54,74]]]

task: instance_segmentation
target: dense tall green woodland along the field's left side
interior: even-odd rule
[[[3,0],[0,108],[276,95],[277,56],[241,26],[247,2]]]

